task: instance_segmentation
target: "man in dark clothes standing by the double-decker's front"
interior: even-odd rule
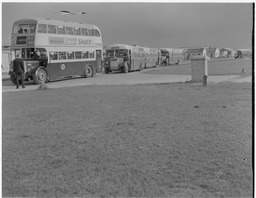
[[[24,85],[24,63],[20,59],[20,55],[17,54],[16,58],[13,60],[13,71],[16,75],[16,89],[19,89],[19,79],[21,80],[22,88],[25,88]]]

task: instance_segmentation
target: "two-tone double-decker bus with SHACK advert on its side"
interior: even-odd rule
[[[21,19],[13,24],[11,54],[12,59],[20,54],[25,80],[36,84],[73,76],[92,77],[102,71],[101,32],[92,24]],[[11,80],[16,83],[14,75]]]

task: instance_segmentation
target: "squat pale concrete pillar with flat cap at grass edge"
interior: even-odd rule
[[[205,56],[194,56],[191,57],[191,81],[192,82],[203,82],[207,84],[208,76],[208,60],[209,57]]]

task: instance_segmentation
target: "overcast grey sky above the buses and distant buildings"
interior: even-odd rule
[[[61,15],[61,10],[86,15]],[[2,42],[12,24],[43,17],[97,25],[103,45],[251,48],[252,3],[2,3]]]

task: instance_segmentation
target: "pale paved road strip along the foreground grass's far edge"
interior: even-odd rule
[[[153,68],[158,69],[158,68]],[[46,83],[47,88],[62,88],[62,87],[76,87],[87,85],[131,85],[131,84],[151,84],[151,83],[185,83],[191,80],[191,75],[158,75],[158,74],[146,74],[145,72],[130,72],[114,73],[114,74],[97,74],[93,78],[72,78],[65,80],[58,80]],[[221,76],[208,76],[208,83],[218,82],[252,82],[252,76],[248,75],[221,75]],[[16,89],[16,86],[10,81],[2,81],[2,92],[16,92],[36,90],[40,85],[34,84],[34,82],[26,83],[25,89]]]

